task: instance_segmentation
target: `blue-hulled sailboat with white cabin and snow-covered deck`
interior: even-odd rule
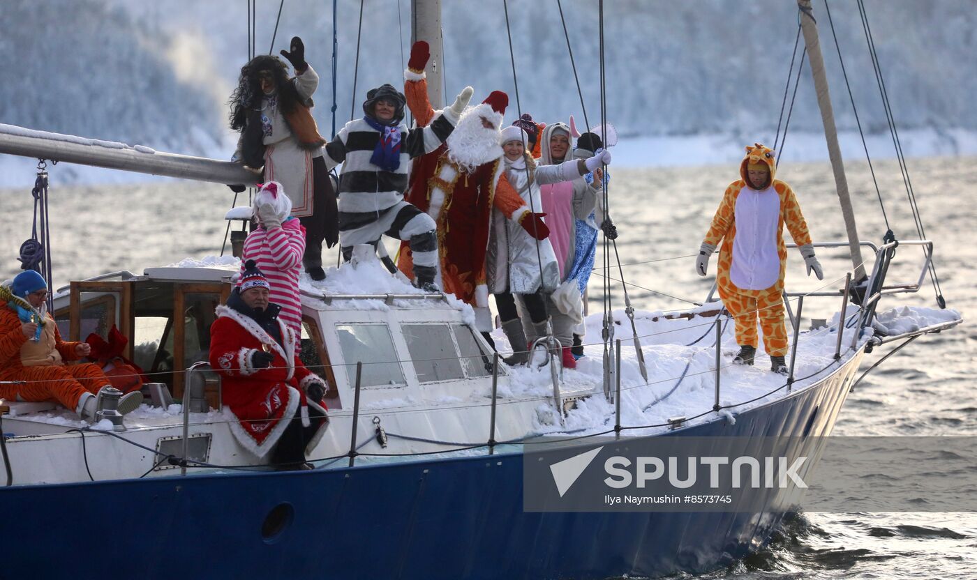
[[[418,0],[412,19],[414,39],[430,42],[434,62],[438,7]],[[364,258],[301,288],[303,359],[329,383],[329,427],[311,454],[317,469],[275,472],[235,439],[220,380],[205,362],[234,258],[75,280],[53,299],[63,333],[78,340],[115,324],[130,358],[154,343],[142,355],[155,404],[93,428],[54,404],[4,402],[6,574],[76,576],[80,567],[81,576],[138,578],[604,578],[709,570],[762,546],[794,498],[757,489],[750,501],[762,508],[751,512],[528,511],[525,461],[540,437],[581,451],[607,434],[779,436],[818,445],[873,347],[960,322],[948,314],[911,332],[873,331],[883,297],[919,291],[933,244],[859,239],[810,0],[798,7],[848,234],[820,245],[847,246],[854,275],[787,294],[796,299],[796,322],[786,381],[758,382],[723,362],[731,333],[717,301],[636,317],[633,337],[592,347],[611,353],[597,376],[563,372],[545,354],[538,368],[507,369],[475,331],[470,310]],[[10,126],[0,127],[0,152],[222,184],[254,179],[232,163]],[[922,249],[917,279],[886,280],[897,245]],[[865,249],[873,261],[863,261]],[[836,300],[840,310],[827,326],[801,332],[804,298]],[[634,379],[638,357],[622,359],[622,348],[635,339],[645,339],[639,348],[648,360],[659,345],[688,349],[714,376],[715,391],[683,394],[683,413],[662,415],[658,403],[686,374]],[[622,424],[623,401],[642,409],[646,423]],[[581,417],[583,408],[600,418]],[[101,554],[115,555],[110,568],[99,568],[93,557]]]

